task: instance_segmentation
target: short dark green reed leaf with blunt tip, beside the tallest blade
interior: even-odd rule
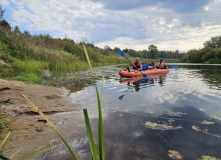
[[[89,139],[91,154],[92,154],[93,160],[97,160],[98,151],[97,151],[96,146],[94,145],[94,138],[93,138],[93,133],[91,130],[91,125],[90,125],[90,120],[88,117],[87,109],[83,109],[83,112],[84,112],[84,119],[85,119],[85,124],[86,124],[86,128],[87,128],[87,135],[88,135],[88,139]]]

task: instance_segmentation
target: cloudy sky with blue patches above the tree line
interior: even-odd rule
[[[103,48],[200,49],[221,35],[221,0],[0,0],[21,31]]]

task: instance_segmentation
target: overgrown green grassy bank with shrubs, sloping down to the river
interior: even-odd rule
[[[88,46],[87,46],[88,45]],[[88,55],[95,66],[128,64],[116,51],[101,49],[88,43]],[[131,61],[134,57],[125,53]],[[0,78],[43,83],[45,77],[88,69],[82,43],[71,39],[58,39],[49,35],[30,35],[0,27]],[[142,62],[158,60],[142,59]],[[165,60],[177,62],[177,59]],[[45,75],[45,72],[47,75]]]

